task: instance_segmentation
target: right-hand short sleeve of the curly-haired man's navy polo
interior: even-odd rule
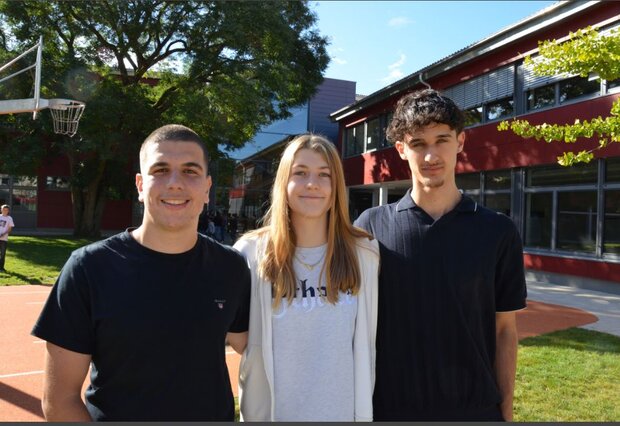
[[[523,266],[523,244],[516,227],[511,227],[500,247],[495,271],[495,310],[510,312],[526,306],[527,288]]]

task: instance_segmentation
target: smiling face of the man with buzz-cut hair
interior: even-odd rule
[[[145,229],[196,230],[211,188],[202,149],[194,142],[147,145],[136,187],[144,203]]]

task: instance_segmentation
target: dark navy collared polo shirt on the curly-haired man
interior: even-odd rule
[[[381,251],[374,419],[473,420],[497,410],[495,314],[526,298],[512,220],[467,196],[434,220],[409,190],[355,225]]]

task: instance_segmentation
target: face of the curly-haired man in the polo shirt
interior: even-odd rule
[[[428,190],[454,183],[456,156],[464,142],[465,133],[457,135],[447,124],[430,124],[407,134],[394,146],[409,163],[413,185]]]

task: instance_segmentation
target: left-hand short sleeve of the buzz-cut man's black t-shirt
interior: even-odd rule
[[[94,329],[88,281],[74,252],[63,266],[32,334],[83,354],[94,350]]]

